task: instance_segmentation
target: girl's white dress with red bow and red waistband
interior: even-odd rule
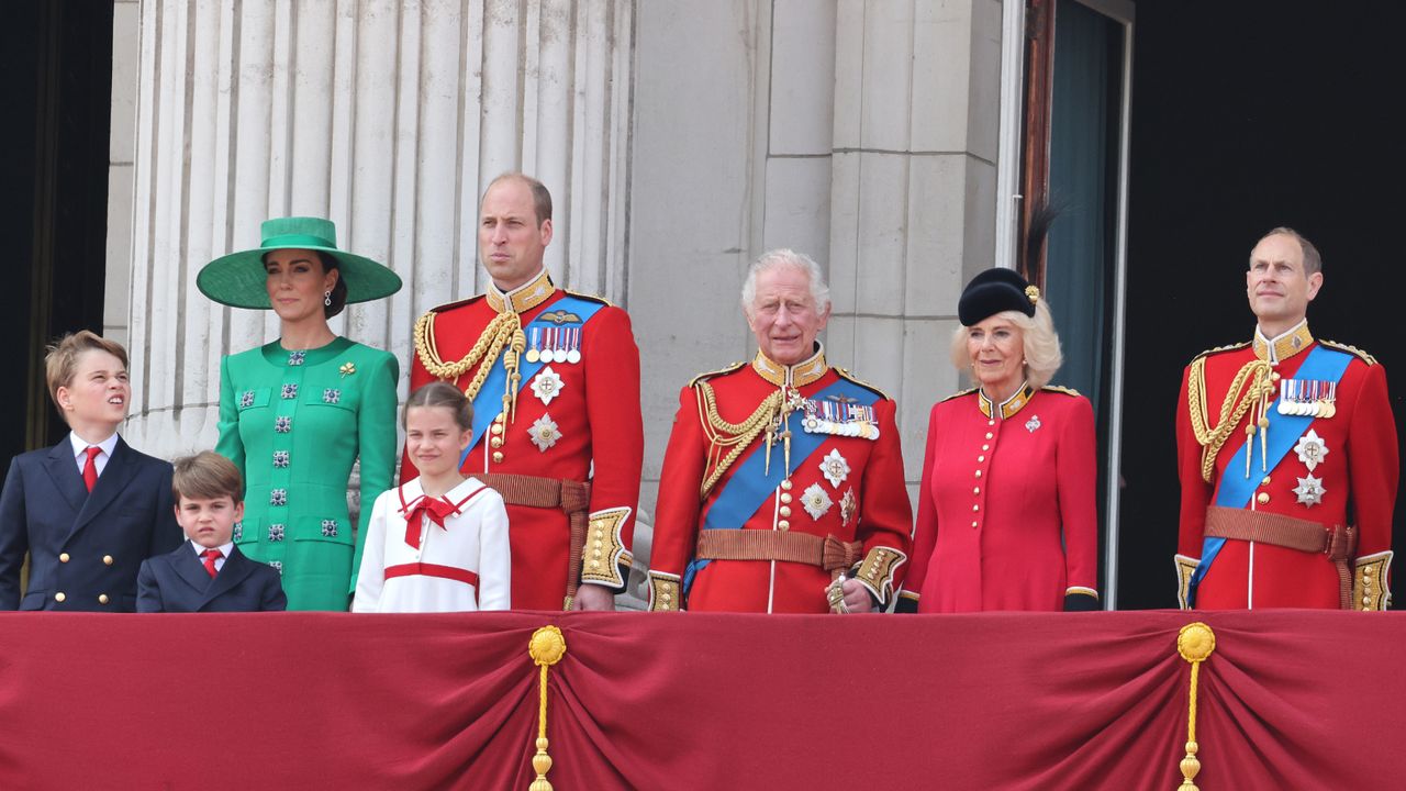
[[[352,612],[508,609],[512,555],[502,495],[478,480],[464,480],[444,494],[460,512],[446,517],[443,528],[427,515],[419,517],[420,546],[416,549],[405,542],[409,526],[405,512],[423,495],[420,479],[415,479],[375,498],[366,526]],[[433,571],[385,578],[387,569],[419,563],[478,574],[478,586]]]

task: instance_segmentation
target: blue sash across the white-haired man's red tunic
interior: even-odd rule
[[[824,401],[832,396],[841,396],[865,407],[872,407],[879,400],[879,394],[873,390],[860,387],[844,377],[807,398],[811,401]],[[723,484],[723,488],[718,490],[713,507],[709,508],[707,517],[703,519],[703,529],[740,529],[770,498],[776,487],[799,470],[828,436],[832,436],[828,434],[807,434],[801,428],[804,419],[806,415],[800,410],[786,418],[786,429],[792,432],[790,469],[782,470],[782,464],[773,463],[770,464],[770,473],[768,473],[766,441],[758,438],[755,441],[756,448],[747,456],[747,460],[733,467],[733,474]],[[776,452],[780,449],[773,446],[772,450]],[[689,563],[688,570],[683,573],[685,594],[693,586],[693,576],[707,564],[709,560],[699,559],[693,559]]]

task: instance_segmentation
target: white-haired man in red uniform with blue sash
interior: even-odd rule
[[[830,289],[811,259],[752,265],[758,353],[695,379],[664,456],[650,608],[865,612],[908,559],[894,403],[825,362]]]

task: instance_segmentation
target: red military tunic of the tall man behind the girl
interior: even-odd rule
[[[432,367],[439,367],[436,357],[444,363],[464,359],[501,311],[516,310],[523,328],[538,317],[553,318],[547,322],[553,334],[548,336],[538,331],[536,346],[531,329],[524,332],[527,349],[554,346],[558,353],[571,349],[579,357],[571,355],[565,362],[548,362],[526,377],[517,391],[516,415],[505,414],[502,387],[494,393],[484,388],[474,401],[475,414],[486,410],[485,415],[496,418],[470,448],[463,472],[589,480],[586,543],[591,549],[582,557],[581,581],[620,591],[633,563],[630,546],[644,462],[640,350],[630,331],[630,317],[623,310],[602,304],[582,322],[582,317],[554,307],[565,296],[553,286],[544,269],[509,294],[489,284],[484,296],[434,308],[426,331],[420,332],[419,327],[425,325],[418,325],[411,390],[436,379],[426,366],[426,357]],[[595,297],[572,297],[603,303]],[[496,357],[499,367],[502,356]],[[526,359],[531,357],[526,355]],[[461,374],[446,379],[467,390],[482,365],[479,360]],[[406,456],[401,480],[416,474]],[[560,609],[567,593],[571,550],[567,515],[560,508],[509,502],[508,521],[513,608]]]

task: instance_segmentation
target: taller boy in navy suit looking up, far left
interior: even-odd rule
[[[120,343],[89,331],[66,335],[49,348],[45,379],[72,431],[10,462],[0,491],[0,609],[132,612],[142,560],[180,542],[172,466],[117,435],[132,400]]]

